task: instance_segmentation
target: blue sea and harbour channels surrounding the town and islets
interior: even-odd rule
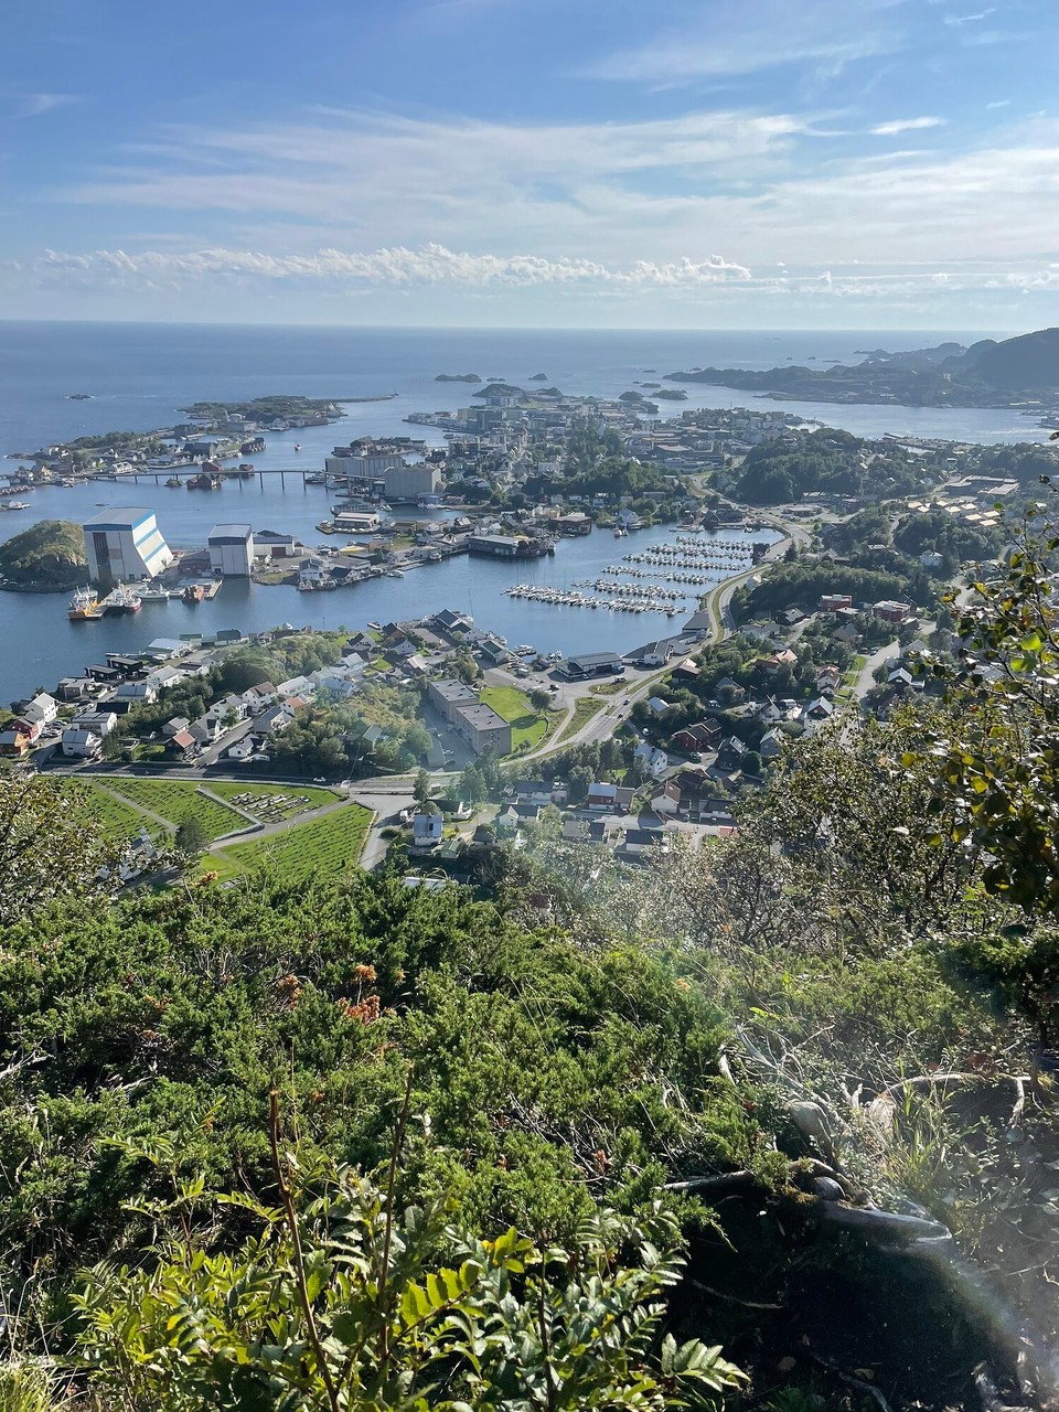
[[[381,397],[350,402],[342,422],[285,435],[270,435],[254,457],[267,467],[321,469],[339,442],[364,433],[412,435],[442,445],[439,432],[409,426],[411,411],[457,408],[473,387],[438,383],[438,373],[477,373],[524,384],[537,373],[563,391],[616,397],[635,381],[661,381],[665,373],[696,366],[764,369],[794,360],[809,367],[858,361],[863,349],[925,347],[955,339],[971,343],[973,332],[839,333],[771,332],[569,332],[443,330],[335,328],[226,328],[147,323],[0,323],[0,455],[106,431],[148,431],[181,419],[181,408],[199,400],[236,401],[267,394],[308,397]],[[88,393],[90,401],[71,401]],[[770,402],[746,391],[689,387],[686,407],[781,407],[860,435],[911,432],[977,442],[1042,441],[1046,432],[1012,411],[904,407],[832,407]],[[295,452],[295,443],[301,450]],[[7,462],[13,467],[16,462]],[[99,483],[38,490],[31,508],[4,514],[7,538],[42,518],[82,520],[103,505],[147,504],[175,546],[205,544],[217,520],[250,521],[256,530],[292,531],[316,542],[315,524],[328,517],[329,494],[304,487],[301,477],[229,483],[217,494],[164,486]],[[638,544],[637,548],[642,548]],[[628,650],[672,631],[679,618],[551,609],[508,599],[503,589],[531,573],[555,585],[586,578],[616,559],[611,538],[561,544],[552,561],[530,569],[457,558],[418,569],[404,579],[381,579],[333,594],[294,589],[225,585],[198,609],[179,603],[145,604],[134,618],[69,624],[64,596],[0,593],[0,700],[51,686],[59,676],[99,661],[107,650],[134,650],[154,637],[219,627],[261,630],[277,623],[363,626],[369,618],[408,617],[449,606],[503,633],[511,642],[542,651]],[[597,562],[599,561],[599,562]]]

